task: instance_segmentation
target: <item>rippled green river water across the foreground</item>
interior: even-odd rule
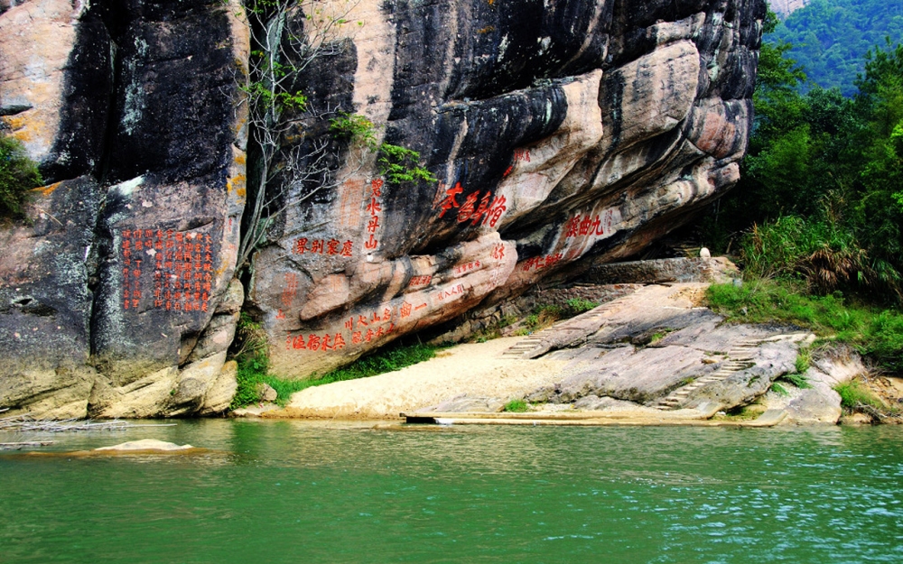
[[[898,427],[212,420],[42,450],[143,438],[212,452],[0,454],[0,563],[903,562]]]

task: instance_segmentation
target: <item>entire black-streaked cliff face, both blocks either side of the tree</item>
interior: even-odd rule
[[[329,143],[335,181],[277,195],[248,279],[275,372],[322,372],[633,254],[721,195],[764,14],[759,0],[353,4],[360,24],[307,69],[299,116],[298,146]],[[50,182],[33,224],[0,232],[0,407],[228,405],[248,51],[237,5],[0,4],[0,116]],[[380,176],[376,153],[329,133],[337,108],[439,181]],[[292,143],[286,168],[304,164]]]

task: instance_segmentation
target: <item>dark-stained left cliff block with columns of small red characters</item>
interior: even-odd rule
[[[49,182],[31,224],[0,231],[0,406],[228,407],[248,50],[235,8],[26,0],[0,13],[0,119]]]

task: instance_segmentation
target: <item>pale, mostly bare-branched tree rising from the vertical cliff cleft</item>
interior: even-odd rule
[[[316,111],[299,85],[315,60],[341,51],[340,32],[354,0],[243,0],[251,35],[247,80],[241,88],[248,112],[247,211],[238,248],[237,267],[247,267],[251,254],[284,208],[335,184],[330,171],[329,140],[313,139],[302,117]],[[363,23],[355,23],[362,25]],[[335,108],[319,108],[319,116]],[[288,143],[291,141],[291,143]],[[285,147],[291,145],[291,148]],[[319,187],[286,199],[291,187],[317,180]],[[299,190],[300,192],[300,190]]]

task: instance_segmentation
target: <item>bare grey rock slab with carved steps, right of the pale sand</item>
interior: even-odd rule
[[[509,354],[535,358],[556,351],[554,358],[571,362],[554,384],[526,400],[576,405],[606,396],[689,409],[730,409],[756,400],[778,376],[794,370],[804,335],[723,324],[695,306],[704,288],[647,286],[527,337]]]

